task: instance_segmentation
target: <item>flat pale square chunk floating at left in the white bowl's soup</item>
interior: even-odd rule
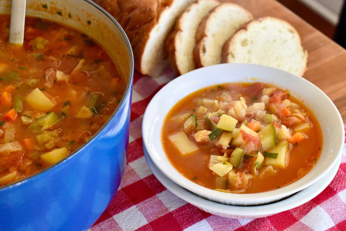
[[[184,132],[177,132],[170,135],[168,139],[180,151],[182,155],[199,150],[198,146],[193,143]]]

